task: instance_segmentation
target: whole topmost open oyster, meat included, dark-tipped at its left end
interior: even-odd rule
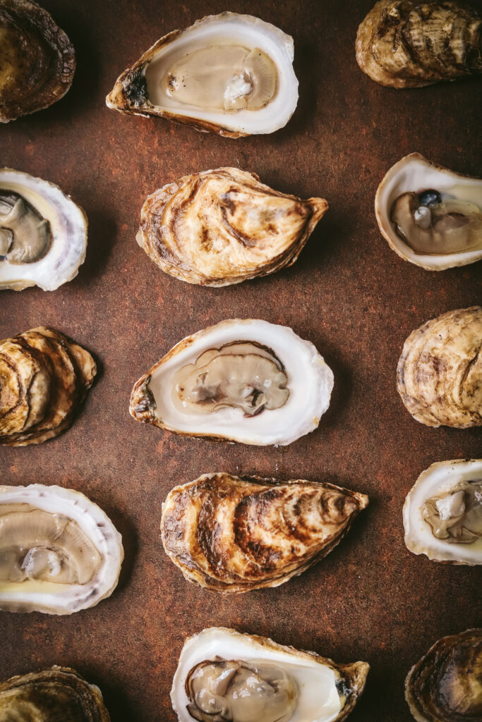
[[[238,138],[272,133],[298,102],[293,38],[251,15],[209,15],[160,38],[122,73],[109,108]]]

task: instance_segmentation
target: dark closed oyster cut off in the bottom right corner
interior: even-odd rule
[[[482,630],[442,637],[408,672],[405,699],[417,722],[482,719]]]

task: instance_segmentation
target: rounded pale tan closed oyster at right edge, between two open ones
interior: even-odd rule
[[[397,389],[426,426],[482,425],[482,308],[460,308],[412,331],[397,367]]]

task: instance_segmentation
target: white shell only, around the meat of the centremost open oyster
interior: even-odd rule
[[[246,407],[224,405],[212,412],[195,412],[194,404],[175,401],[176,375],[186,366],[195,365],[205,352],[222,355],[233,346],[256,344],[262,360],[267,356],[280,365],[277,373],[285,376],[280,392],[285,393],[284,403],[277,408],[261,406],[253,414]],[[245,388],[253,391],[250,363],[245,365],[241,353],[241,372]],[[273,364],[274,365],[274,364]],[[236,376],[238,369],[236,368]],[[202,375],[202,372],[200,373]],[[224,380],[235,379],[233,367],[227,367]],[[262,378],[272,388],[277,380]],[[259,383],[259,379],[256,383]],[[317,428],[319,419],[330,404],[333,374],[317,349],[287,326],[276,326],[257,319],[229,319],[215,326],[187,336],[176,344],[140,378],[132,389],[129,411],[137,421],[145,422],[186,436],[204,436],[212,439],[238,441],[254,445],[286,445]],[[286,389],[288,394],[286,394]],[[271,388],[267,388],[267,392]],[[263,395],[253,391],[257,399]]]

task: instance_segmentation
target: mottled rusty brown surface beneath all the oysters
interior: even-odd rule
[[[87,211],[87,260],[53,293],[2,292],[0,338],[49,324],[98,359],[98,383],[69,432],[1,448],[1,482],[85,492],[124,536],[113,596],[72,617],[0,613],[0,678],[72,665],[100,685],[113,722],[173,721],[171,679],[184,638],[209,625],[271,635],[337,661],[368,660],[353,722],[408,722],[403,681],[437,638],[480,625],[478,570],[429,562],[403,543],[402,506],[433,461],[481,455],[478,430],[414,421],[395,390],[405,337],[423,321],[481,301],[481,264],[430,273],[390,251],[374,217],[376,186],[418,151],[481,175],[481,80],[387,90],[355,60],[371,0],[44,0],[77,51],[69,94],[0,129],[1,162],[58,183]],[[479,9],[482,3],[474,2]],[[161,119],[121,116],[104,97],[165,32],[225,9],[293,35],[298,108],[272,136],[231,140]],[[292,269],[231,288],[189,286],[137,246],[147,193],[219,165],[330,202]],[[179,339],[223,318],[265,318],[316,344],[335,372],[319,429],[285,448],[177,438],[129,417],[132,385]],[[347,539],[285,586],[217,596],[191,586],[163,552],[161,503],[206,471],[304,477],[369,493]]]

